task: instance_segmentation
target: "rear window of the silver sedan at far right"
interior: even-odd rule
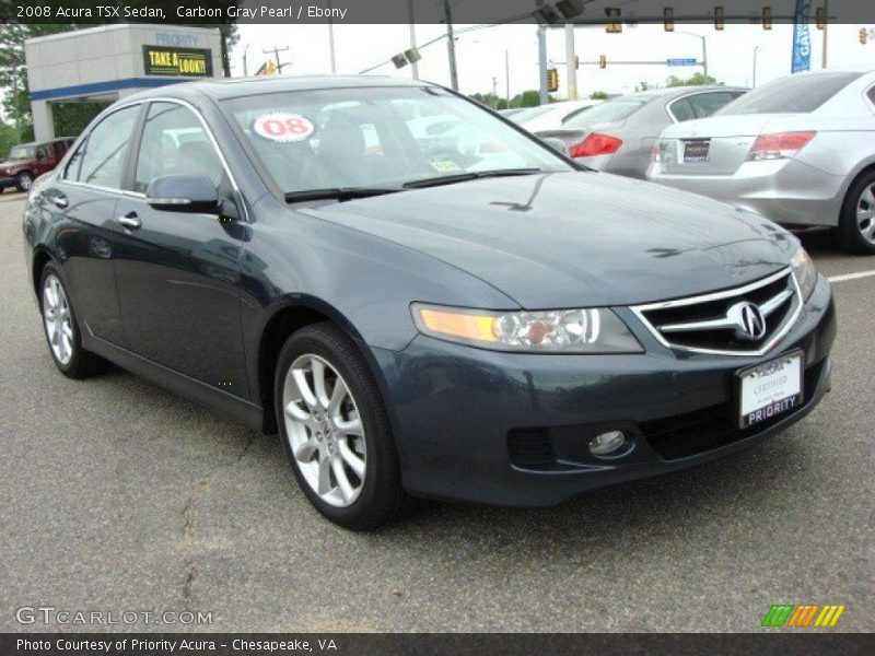
[[[792,75],[763,84],[716,114],[803,114],[814,112],[862,73],[828,72]]]

